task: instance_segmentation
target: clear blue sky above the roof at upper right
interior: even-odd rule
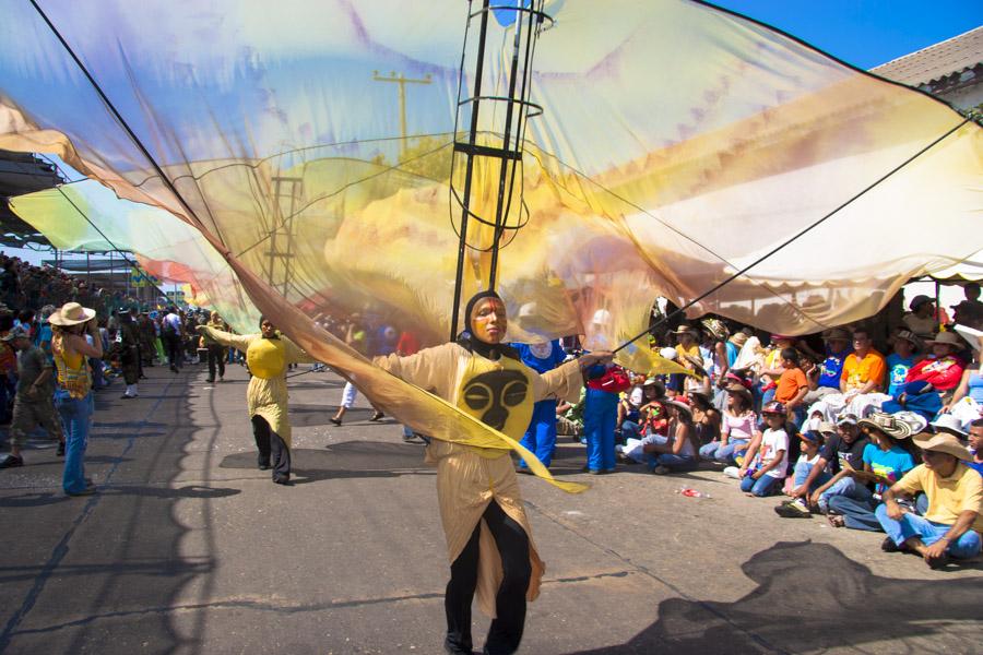
[[[711,0],[869,69],[983,24],[979,0]]]

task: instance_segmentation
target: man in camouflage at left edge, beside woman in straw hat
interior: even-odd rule
[[[17,355],[17,393],[14,396],[13,418],[10,421],[10,455],[0,462],[0,468],[23,466],[21,448],[27,443],[27,434],[42,426],[48,437],[58,441],[58,455],[64,455],[64,433],[61,420],[55,412],[55,374],[51,360],[31,343],[27,331],[20,325],[11,330],[3,341]]]

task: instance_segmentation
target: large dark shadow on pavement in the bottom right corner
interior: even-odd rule
[[[897,555],[896,557],[911,557]],[[736,603],[671,598],[659,620],[616,646],[578,651],[624,653],[779,653],[854,650],[892,640],[893,652],[971,652],[944,634],[958,621],[979,632],[981,581],[898,580],[874,575],[826,544],[779,543],[742,567],[758,587]],[[905,638],[922,638],[905,644]],[[978,643],[979,645],[979,643]]]

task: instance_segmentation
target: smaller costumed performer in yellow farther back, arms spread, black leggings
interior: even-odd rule
[[[269,319],[260,319],[259,334],[232,334],[210,325],[198,325],[206,338],[242,350],[252,379],[246,403],[252,420],[252,437],[259,450],[259,468],[273,466],[273,481],[291,481],[291,420],[287,416],[287,365],[313,362],[300,347],[280,334]]]

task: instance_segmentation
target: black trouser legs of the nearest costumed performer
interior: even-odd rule
[[[497,618],[488,629],[485,653],[514,653],[522,641],[525,627],[525,594],[532,567],[529,563],[529,535],[509,519],[498,503],[492,501],[483,515],[495,537],[501,556],[502,580],[495,597]],[[443,609],[447,612],[447,640],[451,653],[471,653],[471,603],[477,586],[478,536],[481,524],[467,546],[451,564],[451,580],[447,583]]]

